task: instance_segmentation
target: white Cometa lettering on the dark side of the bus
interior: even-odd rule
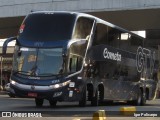
[[[107,48],[103,51],[103,56],[105,59],[115,60],[115,61],[121,61],[121,54],[109,52]]]

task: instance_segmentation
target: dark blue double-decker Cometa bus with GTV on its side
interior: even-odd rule
[[[22,22],[16,37],[11,93],[61,101],[127,101],[144,105],[157,89],[156,48],[121,27],[77,12],[37,11]]]

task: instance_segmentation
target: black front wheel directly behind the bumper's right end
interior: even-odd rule
[[[80,107],[85,107],[87,103],[87,89],[85,88],[83,91],[83,95],[81,97],[81,100],[79,101]]]

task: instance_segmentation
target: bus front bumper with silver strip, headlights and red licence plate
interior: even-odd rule
[[[64,86],[33,86],[19,83],[11,83],[10,92],[17,97],[54,99],[57,101],[77,101],[80,93],[69,89],[69,85]]]

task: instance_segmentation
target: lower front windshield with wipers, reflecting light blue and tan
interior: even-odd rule
[[[52,76],[63,72],[62,48],[26,48],[16,46],[13,73]]]

